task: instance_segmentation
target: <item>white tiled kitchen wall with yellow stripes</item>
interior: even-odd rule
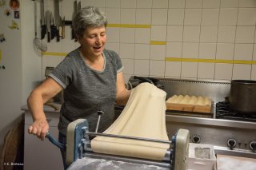
[[[54,0],[46,9],[54,11]],[[107,49],[119,53],[131,75],[203,80],[256,80],[255,0],[81,0],[106,12]],[[72,18],[73,1],[61,16]],[[78,47],[70,26],[61,42],[47,43],[42,69]],[[53,52],[53,53],[51,53]]]

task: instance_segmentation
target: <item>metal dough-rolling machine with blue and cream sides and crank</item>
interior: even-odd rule
[[[97,126],[98,127],[98,126]],[[68,170],[78,169],[122,169],[122,170],[186,170],[186,160],[189,152],[190,132],[178,129],[171,140],[155,140],[134,136],[121,136],[106,133],[89,132],[86,119],[78,119],[68,125],[66,133],[66,146],[54,140],[48,133],[46,137],[59,148],[66,149],[66,164]],[[130,140],[145,140],[170,144],[163,160],[148,160],[128,156],[115,156],[93,152],[90,147],[92,136],[108,136]]]

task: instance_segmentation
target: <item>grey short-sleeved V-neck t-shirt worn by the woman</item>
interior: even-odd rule
[[[103,132],[114,121],[114,100],[116,98],[117,73],[123,69],[117,53],[104,49],[104,68],[98,71],[86,65],[79,48],[67,54],[62,62],[50,73],[64,88],[64,103],[60,111],[58,129],[66,134],[71,121],[85,118],[89,130],[95,131],[98,111],[104,114],[98,127]]]

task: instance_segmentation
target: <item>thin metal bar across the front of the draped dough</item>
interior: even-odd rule
[[[164,143],[164,144],[173,144],[173,142],[170,140],[155,140],[155,139],[149,139],[149,138],[144,138],[144,137],[113,135],[113,134],[99,133],[99,132],[86,132],[86,135],[88,135],[88,136],[107,136],[107,137],[116,137],[116,138],[130,139],[130,140],[144,140],[144,141],[152,141],[152,142],[158,142],[158,143]]]

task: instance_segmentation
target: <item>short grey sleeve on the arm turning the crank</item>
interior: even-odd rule
[[[64,89],[70,85],[72,81],[72,73],[74,73],[74,61],[72,57],[65,57],[50,73],[50,77],[57,81]]]

